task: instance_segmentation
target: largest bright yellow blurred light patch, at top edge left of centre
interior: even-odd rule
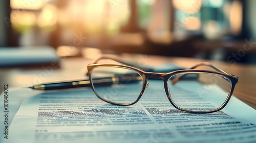
[[[125,25],[130,16],[129,1],[70,1],[67,10],[72,18],[70,24],[73,26],[76,23],[83,23],[83,26],[79,27],[90,34],[118,33],[119,28]]]

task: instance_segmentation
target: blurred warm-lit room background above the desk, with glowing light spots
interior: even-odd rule
[[[255,6],[254,0],[0,1],[0,50],[47,45],[60,57],[135,53],[254,64]]]

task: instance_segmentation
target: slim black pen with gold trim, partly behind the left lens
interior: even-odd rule
[[[140,76],[126,74],[126,75],[115,75],[113,77],[97,78],[97,79],[94,79],[93,82],[94,82],[94,85],[97,85],[97,86],[110,86],[112,84],[135,83],[141,80],[142,78]],[[27,88],[36,89],[36,90],[54,90],[54,89],[91,87],[91,86],[92,85],[90,80],[87,79],[87,80],[79,80],[79,81],[38,84],[38,85],[34,85]]]

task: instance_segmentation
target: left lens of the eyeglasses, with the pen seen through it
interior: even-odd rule
[[[143,86],[140,74],[127,68],[97,67],[91,78],[99,97],[118,104],[135,102]]]

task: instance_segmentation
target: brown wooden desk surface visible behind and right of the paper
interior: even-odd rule
[[[123,59],[137,59],[138,65],[146,64],[158,65],[164,62],[175,63],[179,66],[189,68],[198,62],[206,60],[191,58],[169,58],[146,55],[123,55]],[[92,63],[92,59],[65,58],[61,59],[61,68],[50,69],[49,67],[27,67],[8,68],[0,70],[1,85],[0,91],[4,89],[4,84],[9,87],[26,87],[40,82],[53,82],[63,80],[84,79],[87,71],[86,65]],[[225,62],[206,61],[224,69],[229,74],[239,77],[233,96],[256,109],[256,65],[230,64]],[[225,69],[226,68],[226,69]]]

